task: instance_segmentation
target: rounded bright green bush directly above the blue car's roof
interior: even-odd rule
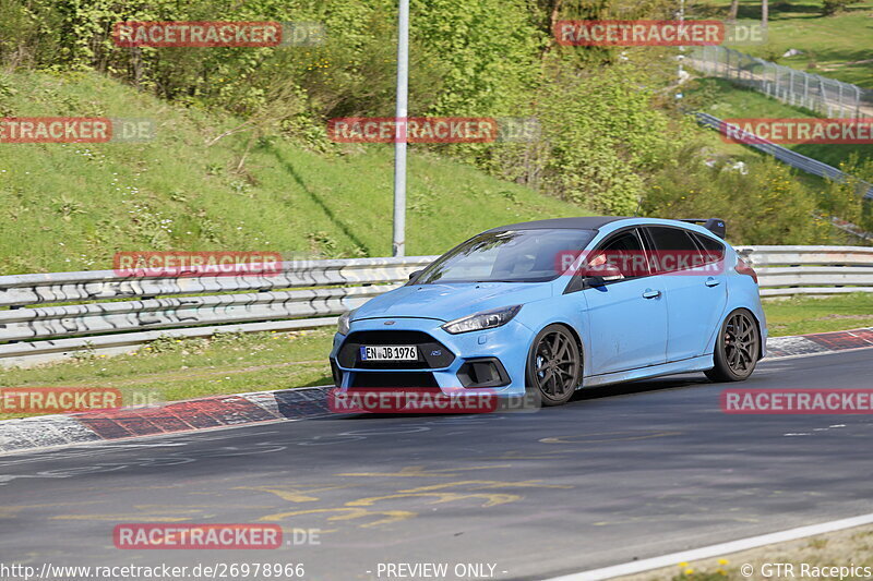
[[[670,158],[674,132],[632,62],[578,71],[553,62],[530,108],[531,144],[501,144],[479,164],[504,178],[607,214],[633,214],[647,175]]]

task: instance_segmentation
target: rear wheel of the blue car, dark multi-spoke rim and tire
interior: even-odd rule
[[[706,376],[716,383],[742,382],[752,375],[761,354],[761,332],[754,315],[738,308],[725,318]]]

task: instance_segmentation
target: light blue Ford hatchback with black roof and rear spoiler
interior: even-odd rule
[[[757,277],[725,222],[559,218],[493,228],[339,319],[343,390],[536,394],[704,372],[748,378],[765,354]]]

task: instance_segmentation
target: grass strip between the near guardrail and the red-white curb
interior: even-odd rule
[[[766,301],[764,310],[772,337],[873,326],[871,293]],[[124,401],[170,401],[330,385],[332,337],[333,329],[320,329],[162,339],[133,354],[0,370],[0,386],[118,388]]]

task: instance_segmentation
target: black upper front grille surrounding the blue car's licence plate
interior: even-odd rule
[[[418,350],[416,361],[361,361],[361,346],[412,344]],[[455,360],[440,341],[422,331],[368,330],[350,334],[336,356],[342,367],[356,370],[439,370]]]

